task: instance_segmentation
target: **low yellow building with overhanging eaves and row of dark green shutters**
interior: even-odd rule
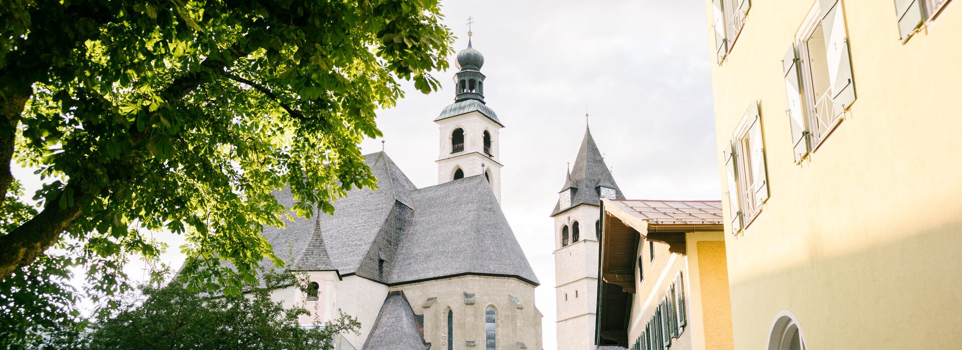
[[[599,346],[733,349],[722,203],[603,198]]]

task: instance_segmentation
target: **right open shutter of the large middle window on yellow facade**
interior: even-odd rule
[[[845,14],[842,13],[841,3],[835,1],[831,10],[826,12],[822,26],[825,33],[828,80],[832,82],[831,96],[834,105],[832,112],[833,116],[838,117],[855,102],[855,85],[851,75],[851,58],[848,56]]]

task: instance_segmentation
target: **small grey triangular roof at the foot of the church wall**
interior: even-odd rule
[[[418,331],[418,319],[404,292],[389,292],[362,350],[424,350],[427,348],[428,344],[424,342],[424,338],[421,338]]]

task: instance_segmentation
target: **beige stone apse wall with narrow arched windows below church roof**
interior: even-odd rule
[[[542,348],[542,314],[535,308],[535,287],[516,278],[461,276],[395,286],[391,291],[403,291],[415,314],[424,315],[424,338],[432,349],[447,349],[448,310],[454,312],[454,348],[484,349],[484,313],[489,305],[497,313],[497,349],[518,349],[519,341],[528,349]],[[465,304],[464,292],[474,293],[474,304]],[[523,309],[509,295],[518,297]],[[423,308],[428,297],[438,299]],[[467,347],[465,340],[477,345]]]

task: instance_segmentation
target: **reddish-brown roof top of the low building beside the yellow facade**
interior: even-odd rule
[[[605,199],[649,224],[722,224],[721,200]]]

